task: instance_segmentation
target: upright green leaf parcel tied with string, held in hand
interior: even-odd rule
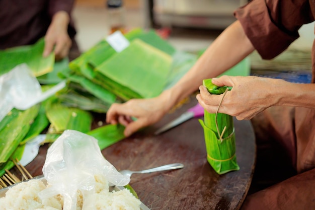
[[[224,94],[228,87],[218,87],[211,79],[203,80],[210,94]],[[222,95],[224,97],[224,95]],[[235,132],[232,116],[224,113],[209,113],[204,110],[204,121],[199,120],[204,130],[207,161],[218,174],[239,170],[235,154]]]

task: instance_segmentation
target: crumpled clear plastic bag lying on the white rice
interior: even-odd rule
[[[76,209],[78,190],[83,194],[83,209],[95,208],[85,200],[95,193],[96,174],[117,186],[125,186],[130,181],[129,176],[120,174],[103,157],[96,138],[76,130],[65,130],[50,146],[43,174],[49,187],[40,192],[40,197],[63,195],[63,210]]]

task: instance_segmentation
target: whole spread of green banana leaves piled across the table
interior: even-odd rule
[[[124,36],[130,44],[119,53],[104,37],[70,62],[55,62],[53,53],[43,58],[43,39],[0,51],[0,77],[27,63],[43,92],[66,81],[55,95],[27,110],[14,108],[0,121],[0,176],[14,166],[13,159],[21,159],[25,145],[40,133],[46,134],[43,143],[52,143],[64,130],[78,130],[98,139],[101,150],[120,141],[122,125],[92,129],[94,116],[106,113],[114,102],[159,95],[197,60],[197,55],[176,50],[153,30],[134,29]]]

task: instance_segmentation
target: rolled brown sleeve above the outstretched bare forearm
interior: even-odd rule
[[[298,29],[312,22],[307,0],[253,0],[234,16],[263,59],[272,59],[299,37]]]

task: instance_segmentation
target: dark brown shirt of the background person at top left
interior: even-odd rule
[[[73,0],[0,1],[0,49],[35,43],[45,36],[52,16],[58,11],[69,15]],[[75,30],[68,28],[71,38]]]

